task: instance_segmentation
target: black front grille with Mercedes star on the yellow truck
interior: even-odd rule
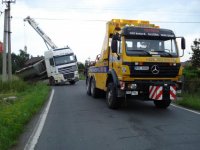
[[[176,66],[169,63],[144,63],[143,66],[149,66],[149,70],[134,70],[135,63],[123,63],[130,68],[130,77],[143,77],[143,78],[169,78],[176,77],[180,69],[180,63]],[[153,74],[151,71],[152,66],[157,65],[159,68],[158,74]]]

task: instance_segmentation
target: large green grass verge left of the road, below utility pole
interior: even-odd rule
[[[0,83],[0,150],[10,149],[17,143],[25,125],[48,98],[50,87],[44,83],[26,84],[23,81]],[[14,102],[4,101],[16,96]]]

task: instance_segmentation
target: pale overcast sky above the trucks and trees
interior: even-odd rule
[[[186,38],[182,61],[190,58],[191,44],[200,38],[199,0],[16,0],[11,5],[12,52],[27,46],[32,56],[41,56],[47,47],[42,38],[23,19],[34,18],[58,47],[68,45],[84,62],[100,53],[106,21],[113,18],[149,20]],[[5,4],[0,4],[4,11]],[[0,41],[3,41],[0,16]],[[180,23],[183,22],[183,23]]]

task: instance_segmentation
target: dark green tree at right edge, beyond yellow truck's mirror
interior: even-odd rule
[[[195,39],[191,46],[193,54],[191,57],[191,63],[194,68],[200,68],[200,39]]]

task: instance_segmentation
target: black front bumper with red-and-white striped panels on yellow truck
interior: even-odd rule
[[[152,96],[151,88],[160,87],[162,90],[162,96],[160,98],[155,98]],[[181,83],[173,82],[173,81],[133,81],[133,82],[125,82],[124,89],[118,88],[118,97],[133,97],[141,100],[175,100],[176,99],[176,91],[181,88]],[[154,90],[155,90],[154,89]],[[155,90],[155,93],[156,93]],[[172,93],[173,92],[173,93]],[[172,97],[173,96],[173,97]]]

